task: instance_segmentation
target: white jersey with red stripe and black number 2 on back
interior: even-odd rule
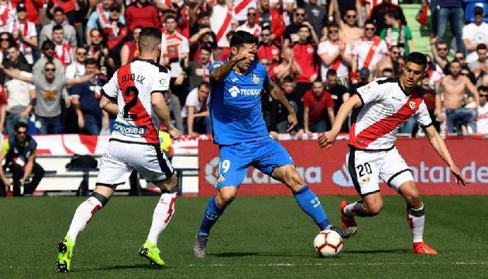
[[[169,70],[150,60],[125,64],[114,73],[102,88],[102,95],[119,106],[111,140],[159,145],[160,120],[151,95],[166,94],[169,79]]]

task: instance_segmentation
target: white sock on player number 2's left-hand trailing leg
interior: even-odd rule
[[[71,221],[70,229],[68,230],[66,237],[71,237],[73,242],[75,242],[79,232],[86,227],[86,224],[89,223],[93,215],[98,209],[102,208],[102,206],[102,202],[94,196],[91,196],[82,202],[76,209],[75,216],[73,216],[73,221]]]

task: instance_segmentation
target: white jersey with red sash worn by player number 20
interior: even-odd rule
[[[407,94],[397,78],[381,78],[358,88],[363,102],[349,131],[351,145],[359,150],[390,150],[398,127],[413,116],[420,127],[432,125],[427,106],[415,90]]]

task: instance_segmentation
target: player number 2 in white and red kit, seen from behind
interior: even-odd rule
[[[116,186],[123,184],[132,170],[160,187],[162,193],[139,255],[156,266],[165,264],[156,244],[174,214],[178,186],[174,169],[159,146],[160,122],[168,128],[171,138],[178,138],[180,132],[171,124],[165,103],[169,70],[156,63],[161,51],[159,29],[142,29],[137,47],[139,60],[119,68],[102,88],[100,107],[116,115],[114,131],[100,161],[96,189],[76,209],[66,237],[57,246],[59,272],[70,271],[77,234],[107,204]]]

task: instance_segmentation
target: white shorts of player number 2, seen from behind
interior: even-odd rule
[[[100,161],[96,185],[115,189],[127,181],[132,170],[153,183],[167,180],[174,173],[159,146],[111,140]]]

